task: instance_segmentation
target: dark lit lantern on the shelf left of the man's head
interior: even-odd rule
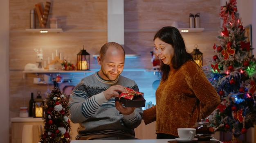
[[[90,70],[90,54],[84,49],[77,54],[77,70]]]

